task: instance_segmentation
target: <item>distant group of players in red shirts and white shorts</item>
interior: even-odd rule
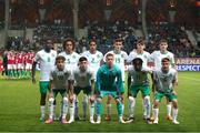
[[[3,53],[3,75],[7,78],[30,78],[34,51],[6,51]]]

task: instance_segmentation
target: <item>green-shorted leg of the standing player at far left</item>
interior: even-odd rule
[[[47,91],[49,88],[49,82],[42,82],[40,81],[40,121],[44,120],[46,116],[46,98],[47,98]]]

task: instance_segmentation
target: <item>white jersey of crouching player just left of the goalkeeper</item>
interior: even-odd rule
[[[91,80],[94,80],[94,72],[88,68],[84,72],[80,71],[79,66],[73,69],[71,80],[74,81],[74,86],[86,88],[91,85]]]

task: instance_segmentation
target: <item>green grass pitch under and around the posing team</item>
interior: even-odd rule
[[[78,121],[72,124],[61,124],[54,121],[52,124],[39,122],[39,85],[30,80],[0,79],[0,132],[67,132],[67,131],[100,131],[100,132],[200,132],[200,72],[179,72],[178,101],[180,125],[173,125],[166,120],[166,101],[160,104],[158,125],[148,125],[142,120],[141,98],[137,98],[136,121],[131,124],[119,124],[116,105],[112,104],[112,121],[99,125],[89,121]],[[80,95],[81,96],[81,95]],[[79,98],[80,98],[79,96]],[[80,100],[80,115],[82,112]],[[57,98],[57,114],[59,114],[60,96]],[[103,102],[103,116],[106,108]],[[112,102],[114,103],[114,102]],[[128,114],[126,99],[124,114]],[[48,109],[48,108],[47,108]]]

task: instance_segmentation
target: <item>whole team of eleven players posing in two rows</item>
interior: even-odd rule
[[[67,39],[63,42],[63,52],[57,55],[53,51],[52,41],[48,40],[44,49],[36,54],[32,66],[32,82],[36,82],[36,64],[40,63],[40,111],[41,121],[44,121],[46,114],[46,98],[47,91],[50,88],[49,94],[49,117],[46,123],[53,122],[54,99],[58,93],[62,95],[61,116],[63,124],[72,123],[79,120],[78,94],[82,90],[83,119],[87,117],[87,104],[90,110],[90,122],[101,122],[101,100],[108,95],[107,100],[107,116],[106,120],[111,120],[111,98],[114,98],[120,123],[130,123],[134,120],[136,98],[139,91],[142,93],[143,119],[148,123],[158,124],[158,103],[162,96],[167,98],[167,119],[172,123],[179,124],[177,121],[178,102],[174,88],[177,86],[177,71],[174,68],[174,58],[167,50],[168,42],[160,40],[160,50],[151,54],[144,51],[144,41],[137,42],[134,49],[128,55],[122,51],[122,41],[116,39],[113,41],[113,50],[103,54],[97,50],[96,40],[89,42],[89,50],[78,54],[74,52],[74,41]],[[154,62],[154,69],[148,68],[149,62]],[[56,64],[56,66],[54,66]],[[128,99],[129,99],[129,117],[123,119],[123,93],[124,93],[124,65],[130,64],[128,69]],[[53,68],[53,69],[52,69]],[[152,117],[150,105],[150,86],[148,73],[151,73],[153,84],[153,109]],[[68,94],[67,94],[68,93]],[[171,116],[171,102],[173,113]],[[70,111],[70,120],[67,122],[66,116]],[[93,120],[94,108],[97,121]]]

